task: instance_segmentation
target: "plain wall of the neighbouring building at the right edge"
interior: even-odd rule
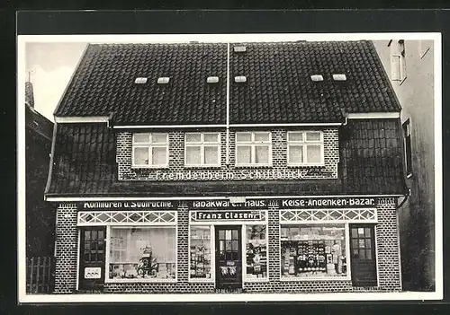
[[[405,77],[392,80],[394,39],[374,41],[401,103],[401,122],[410,119],[411,194],[399,210],[403,283],[406,290],[435,287],[435,144],[433,40],[404,41]]]

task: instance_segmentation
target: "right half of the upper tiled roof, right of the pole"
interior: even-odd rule
[[[346,113],[400,111],[372,42],[241,43],[230,48],[230,123],[336,122]],[[322,82],[313,82],[321,74]],[[346,74],[336,82],[332,74]]]

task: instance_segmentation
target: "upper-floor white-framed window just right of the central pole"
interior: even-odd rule
[[[237,132],[236,165],[269,166],[272,162],[270,132]]]

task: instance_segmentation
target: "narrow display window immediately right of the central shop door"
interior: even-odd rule
[[[246,225],[246,280],[268,279],[267,225]]]

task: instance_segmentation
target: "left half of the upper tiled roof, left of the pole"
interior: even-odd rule
[[[55,115],[113,113],[117,125],[225,124],[226,73],[227,44],[89,45]],[[220,82],[207,84],[208,76]],[[135,84],[137,77],[148,82]]]

